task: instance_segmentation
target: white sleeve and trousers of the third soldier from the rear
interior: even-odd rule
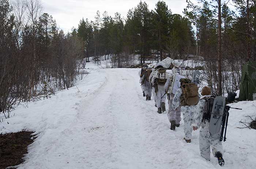
[[[167,79],[166,83],[165,83],[165,90],[168,91],[169,87],[170,87],[170,82],[172,81],[172,76],[170,78]],[[169,96],[168,96],[169,95]],[[174,120],[176,122],[176,124],[180,124],[180,120],[181,120],[181,107],[178,106],[178,108],[176,110],[174,110],[172,108],[172,102],[173,102],[173,97],[174,94],[170,93],[167,96],[167,100],[168,100],[168,106],[169,106],[169,110],[167,113],[167,117],[169,119],[169,122],[171,122],[172,120]]]

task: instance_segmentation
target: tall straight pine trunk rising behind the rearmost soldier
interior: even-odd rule
[[[218,95],[222,95],[221,0],[218,1]]]

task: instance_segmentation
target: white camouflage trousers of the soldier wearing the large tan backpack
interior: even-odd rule
[[[184,133],[185,133],[186,140],[189,140],[192,138],[193,128],[191,125],[193,124],[195,108],[196,108],[196,105],[181,106],[181,112],[184,120]]]

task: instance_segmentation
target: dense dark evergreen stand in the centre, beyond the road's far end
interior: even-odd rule
[[[140,55],[140,62],[169,56],[184,58],[195,54],[195,38],[190,20],[172,14],[164,1],[158,1],[155,10],[150,11],[146,2],[128,11],[126,19],[119,13],[114,17],[99,11],[94,21],[80,20],[73,32],[82,40],[84,56],[101,55],[105,59],[112,55],[114,67],[129,66],[129,55]]]

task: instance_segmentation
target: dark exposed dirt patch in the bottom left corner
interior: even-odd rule
[[[0,169],[21,164],[27,154],[27,146],[33,143],[31,131],[0,135]]]

